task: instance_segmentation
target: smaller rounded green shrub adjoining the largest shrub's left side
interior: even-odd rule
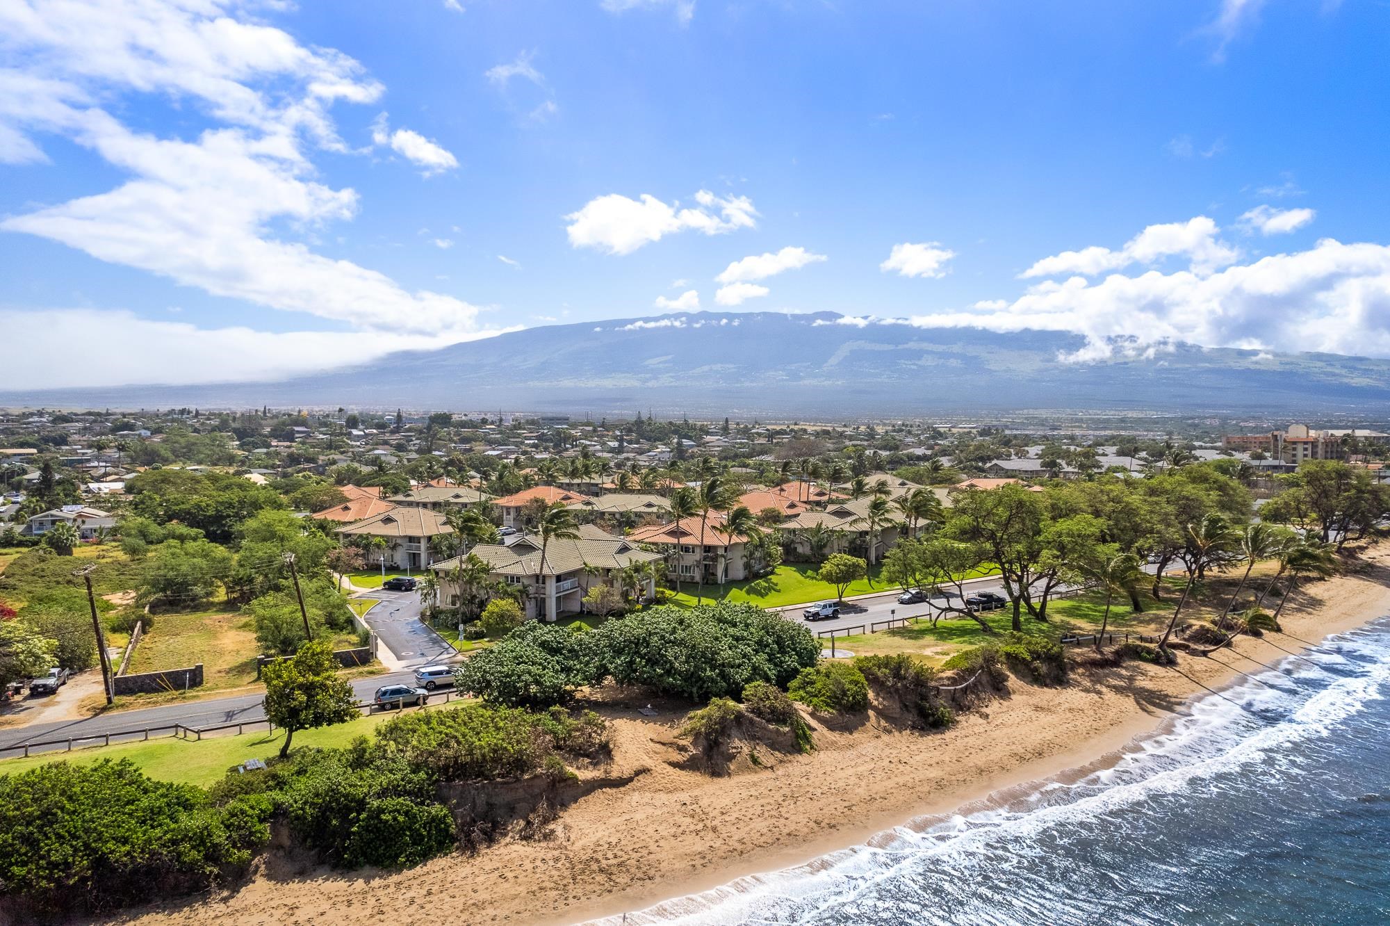
[[[589,640],[567,627],[530,622],[453,670],[459,691],[509,708],[569,704],[592,674]]]

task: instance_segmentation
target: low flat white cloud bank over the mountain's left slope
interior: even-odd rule
[[[25,345],[0,364],[0,389],[268,381],[500,334],[204,330],[95,309],[0,310],[0,330]],[[72,349],[74,338],[100,350],[86,352],[82,363],[53,363]]]

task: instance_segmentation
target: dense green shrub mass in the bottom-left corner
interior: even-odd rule
[[[204,890],[270,831],[247,802],[156,781],[126,759],[0,776],[0,893],[33,913],[99,912]]]

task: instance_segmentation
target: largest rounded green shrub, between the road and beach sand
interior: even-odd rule
[[[746,603],[651,608],[610,620],[585,640],[594,680],[644,685],[705,702],[753,681],[787,685],[820,655],[805,627]]]

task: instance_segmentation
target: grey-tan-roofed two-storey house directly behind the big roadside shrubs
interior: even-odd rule
[[[543,560],[541,538],[531,534],[518,534],[505,544],[480,544],[468,553],[488,563],[495,581],[524,590],[527,619],[550,622],[578,612],[594,585],[617,588],[621,570],[662,559],[660,553],[644,551],[594,524],[582,524],[577,533],[578,538],[553,538],[545,544]],[[457,563],[459,558],[455,558],[431,566],[439,578],[439,601],[450,608],[459,605],[461,594],[449,581],[449,573]],[[656,583],[648,578],[645,598],[655,595]]]

